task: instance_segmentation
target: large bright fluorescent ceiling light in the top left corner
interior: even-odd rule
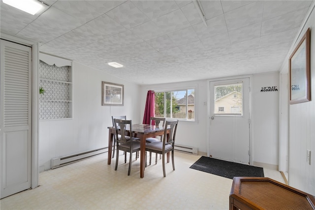
[[[46,5],[39,2],[38,0],[2,0],[10,6],[17,9],[30,13],[32,15],[36,14],[39,10],[43,9]]]

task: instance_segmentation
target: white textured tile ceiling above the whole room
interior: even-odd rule
[[[0,30],[40,51],[138,84],[278,71],[312,0],[44,0],[30,15],[0,2]],[[107,62],[124,67],[115,69]]]

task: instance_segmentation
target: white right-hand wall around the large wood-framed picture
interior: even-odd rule
[[[315,195],[315,11],[311,12],[288,56],[305,34],[311,29],[311,101],[289,105],[289,185]],[[287,57],[288,57],[287,56]],[[281,70],[285,77],[288,65]],[[288,76],[286,76],[288,78]],[[288,81],[285,81],[288,83]],[[287,94],[287,93],[282,93]],[[281,97],[283,100],[284,97]],[[284,102],[285,103],[285,102]],[[282,140],[285,141],[285,140]],[[311,150],[311,165],[307,163],[307,149]]]

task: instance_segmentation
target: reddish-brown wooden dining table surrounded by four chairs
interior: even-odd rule
[[[115,135],[114,127],[108,128],[108,159],[107,164],[111,164],[112,160],[112,148],[113,148],[113,137]],[[128,131],[126,127],[126,131]],[[129,129],[130,131],[130,129]],[[169,130],[168,130],[169,132]],[[164,134],[164,127],[147,125],[147,124],[133,124],[132,125],[132,136],[140,139],[140,178],[144,177],[144,169],[146,163],[146,139],[150,137],[161,136]],[[167,153],[167,162],[169,162],[169,153]]]

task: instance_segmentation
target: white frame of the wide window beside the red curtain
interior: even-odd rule
[[[170,116],[171,117],[167,117],[167,113],[166,113],[166,94],[167,92],[171,92],[171,95],[173,96],[173,92],[177,92],[177,91],[186,91],[186,95],[188,94],[189,90],[193,90],[194,92],[194,119],[188,119],[188,97],[186,98],[186,118],[173,118],[172,116],[172,100],[171,104],[170,104]],[[166,119],[177,119],[179,121],[188,121],[188,122],[196,122],[197,121],[197,87],[183,87],[183,88],[168,88],[168,89],[163,89],[163,90],[155,90],[155,93],[164,93],[164,117]]]

